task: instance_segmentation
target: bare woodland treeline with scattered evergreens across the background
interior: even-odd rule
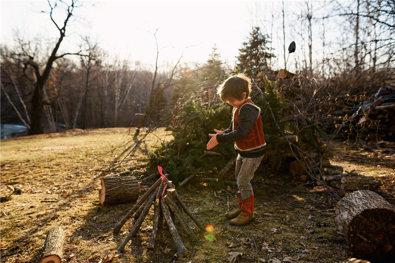
[[[251,26],[234,65],[225,63],[214,46],[202,65],[184,62],[182,56],[172,65],[158,65],[157,48],[157,64],[147,68],[110,57],[89,37],[81,39],[79,51],[61,51],[73,10],[82,7],[75,0],[48,1],[48,21],[58,31],[55,41],[41,45],[17,36],[13,45],[1,43],[1,123],[24,123],[30,134],[141,127],[161,120],[182,98],[200,94],[210,107],[216,86],[227,75],[242,71],[254,79],[258,72],[275,72],[275,58],[283,60],[284,68],[309,75],[320,96],[372,94],[394,85],[395,1],[328,1],[319,8],[314,4],[305,1],[301,13],[292,14],[297,19],[290,33],[285,29],[289,25],[284,17],[290,14],[284,2],[272,21]],[[64,13],[61,22],[52,18],[58,9]],[[282,30],[280,47],[272,45],[274,30]],[[341,37],[333,39],[328,34],[333,30]],[[289,39],[295,40],[298,55],[287,50]]]

